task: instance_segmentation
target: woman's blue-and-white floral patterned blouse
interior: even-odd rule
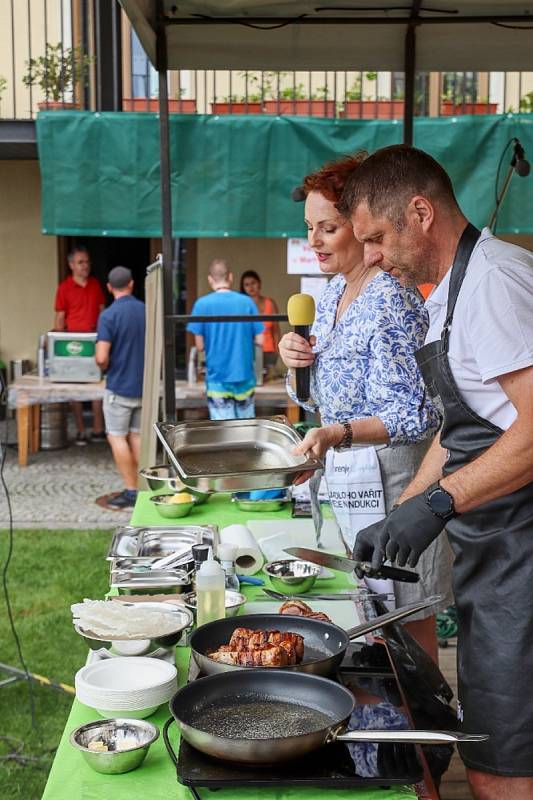
[[[392,445],[426,439],[440,418],[426,398],[415,360],[428,327],[421,298],[380,272],[335,323],[345,284],[336,275],[318,303],[311,331],[316,336],[312,400],[299,405],[319,410],[324,425],[378,417]],[[287,387],[298,402],[289,382]]]

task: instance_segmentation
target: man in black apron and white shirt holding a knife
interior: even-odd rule
[[[340,210],[369,267],[437,284],[418,362],[443,411],[440,438],[388,517],[359,533],[354,558],[414,567],[446,527],[458,719],[490,735],[460,747],[470,787],[477,800],[531,800],[533,255],[474,228],[446,172],[415,148],[370,156]]]

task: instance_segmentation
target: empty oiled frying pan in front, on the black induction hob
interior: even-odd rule
[[[268,765],[300,758],[330,742],[478,742],[482,734],[448,731],[349,731],[352,694],[334,681],[286,670],[255,669],[202,678],[169,703],[183,738],[208,756]],[[165,744],[175,758],[168,739]]]

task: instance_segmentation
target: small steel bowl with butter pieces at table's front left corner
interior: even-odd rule
[[[158,737],[159,730],[151,722],[117,717],[80,725],[70,734],[70,743],[95,772],[119,775],[137,769]],[[96,742],[103,742],[107,752],[89,749]]]

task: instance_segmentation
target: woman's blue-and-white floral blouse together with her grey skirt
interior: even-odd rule
[[[311,369],[312,401],[300,405],[319,411],[325,425],[367,417],[383,422],[392,446],[375,449],[389,513],[416,473],[428,440],[440,424],[415,360],[415,352],[424,344],[428,319],[416,291],[404,289],[388,273],[379,272],[336,324],[344,287],[344,277],[336,275],[318,303],[312,327],[317,340]],[[287,388],[298,402],[289,376]],[[411,619],[430,616],[450,605],[451,563],[447,538],[438,536],[418,562],[420,582],[394,583],[396,605],[442,594],[439,606]]]

